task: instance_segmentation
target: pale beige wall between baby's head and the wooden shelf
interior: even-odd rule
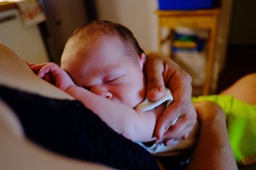
[[[157,51],[156,0],[95,0],[100,20],[125,25],[134,33],[143,50]]]

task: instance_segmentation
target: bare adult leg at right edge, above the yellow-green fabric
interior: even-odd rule
[[[256,73],[243,76],[220,94],[232,95],[240,101],[256,104]]]

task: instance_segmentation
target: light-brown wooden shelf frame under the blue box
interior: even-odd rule
[[[216,27],[220,8],[212,10],[195,10],[195,11],[156,11],[159,22],[158,47],[162,52],[164,43],[161,37],[163,27],[172,31],[177,27],[189,27],[191,29],[207,29],[209,30],[209,39],[207,43],[207,63],[205,67],[205,83],[203,94],[207,95],[211,92],[212,83],[212,67],[214,62],[214,43],[216,38]]]

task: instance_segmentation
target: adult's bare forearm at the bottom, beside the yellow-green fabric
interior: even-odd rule
[[[226,126],[220,118],[209,118],[200,125],[200,136],[188,169],[237,169]]]

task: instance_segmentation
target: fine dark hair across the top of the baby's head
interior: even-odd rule
[[[108,20],[95,20],[81,25],[73,32],[68,41],[76,38],[80,43],[87,43],[99,36],[117,38],[123,43],[129,55],[132,55],[134,52],[137,54],[144,53],[138,41],[127,27]]]

